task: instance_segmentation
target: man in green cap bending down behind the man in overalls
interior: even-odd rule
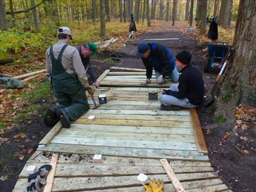
[[[82,63],[84,65],[84,68],[86,69],[88,67],[88,74],[90,75],[90,78],[94,82],[96,87],[100,87],[100,84],[97,82],[95,72],[92,68],[90,57],[93,55],[96,57],[95,51],[98,50],[98,47],[94,43],[86,43],[83,46],[77,46],[76,49],[78,50]]]

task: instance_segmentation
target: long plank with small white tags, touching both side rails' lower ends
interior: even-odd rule
[[[104,156],[122,156],[138,158],[166,158],[168,160],[187,160],[209,162],[208,156],[198,155],[196,151],[188,150],[165,150],[165,149],[139,149],[139,148],[119,148],[119,147],[101,147],[86,145],[68,145],[68,144],[49,144],[46,147],[40,147],[38,151],[62,152],[75,154],[102,154]]]

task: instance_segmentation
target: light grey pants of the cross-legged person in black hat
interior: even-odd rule
[[[179,91],[178,90],[178,85],[172,84],[170,86],[170,90],[178,92]],[[196,105],[192,105],[187,98],[178,99],[178,98],[176,98],[174,96],[170,96],[170,95],[161,95],[160,96],[160,102],[163,105],[178,105],[178,106],[182,106],[182,107],[186,107],[186,108],[195,108],[195,107],[197,107]]]

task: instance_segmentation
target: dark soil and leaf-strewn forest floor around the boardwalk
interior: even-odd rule
[[[111,66],[143,69],[142,60],[134,56],[136,46],[144,42],[143,39],[179,38],[180,40],[158,41],[158,43],[164,44],[174,57],[181,50],[191,52],[191,63],[202,72],[205,93],[208,95],[217,77],[215,72],[205,73],[203,70],[207,53],[206,42],[209,40],[206,36],[187,32],[188,28],[190,27],[184,22],[176,22],[174,27],[170,22],[160,22],[160,25],[148,28],[143,31],[147,33],[134,37],[132,40],[122,42],[120,40],[116,46],[100,50],[97,57],[92,58],[96,77],[98,78]],[[220,33],[222,34],[219,40],[232,43],[231,36],[234,36],[234,28],[222,30]],[[121,46],[122,48],[118,50]],[[118,62],[109,57],[115,52],[118,52],[122,58]],[[8,69],[17,72],[45,68],[44,59],[34,62],[33,65],[9,64],[4,69],[1,67],[1,74],[8,74]],[[14,73],[13,76],[15,75]],[[92,84],[90,78],[88,80]],[[4,106],[4,114],[1,113],[0,190],[11,192],[24,164],[36,151],[40,140],[51,129],[44,125],[43,118],[46,110],[56,104],[56,99],[48,79],[42,75],[27,82],[23,90],[1,93],[1,104]],[[225,124],[224,118],[215,117],[215,110],[214,104],[206,108],[202,106],[197,108],[210,162],[224,184],[234,192],[253,192],[256,188],[253,179],[256,176],[255,124],[242,123],[242,126],[234,130],[233,125]],[[225,139],[227,133],[230,133],[230,136]],[[240,139],[241,136],[243,140]],[[232,144],[236,144],[248,153],[240,154]]]

